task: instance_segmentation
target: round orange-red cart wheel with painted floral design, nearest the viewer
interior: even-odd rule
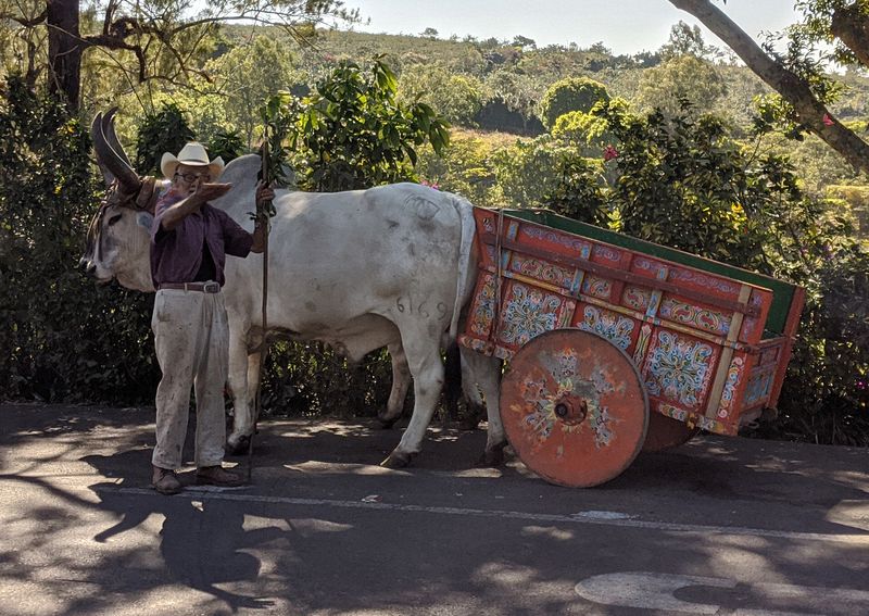
[[[589,488],[618,476],[637,457],[648,400],[621,349],[595,334],[556,329],[511,360],[501,416],[526,466],[552,483]]]

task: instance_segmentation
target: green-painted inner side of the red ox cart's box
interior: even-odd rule
[[[579,221],[561,216],[547,210],[504,210],[504,214],[769,289],[772,291],[772,305],[769,309],[769,316],[767,316],[767,323],[764,327],[769,335],[765,335],[764,338],[781,336],[784,331],[784,326],[788,322],[788,313],[791,310],[791,302],[793,302],[794,292],[796,290],[795,285],[778,280],[770,276],[764,276],[756,272],[750,272],[748,269],[742,269],[741,267],[713,261],[711,259],[697,256],[675,248],[667,248],[666,246],[637,239],[624,234],[595,227],[594,225],[580,223]]]

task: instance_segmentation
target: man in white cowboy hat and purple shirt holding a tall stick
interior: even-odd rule
[[[175,472],[181,466],[191,387],[197,401],[197,482],[243,482],[223,468],[229,329],[221,288],[226,255],[263,252],[266,229],[257,224],[249,234],[209,203],[231,188],[213,184],[223,168],[219,156],[210,161],[205,148],[196,142],[177,156],[166,152],[161,161],[172,185],[158,200],[151,229],[151,277],[158,290],[151,328],[163,372],[156,390],[151,485],[162,494],[181,490]],[[270,188],[257,186],[257,201],[273,198]]]

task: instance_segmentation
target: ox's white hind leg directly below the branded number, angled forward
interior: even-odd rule
[[[438,332],[440,336],[440,332]],[[407,365],[414,378],[414,414],[407,429],[404,430],[399,447],[380,464],[389,468],[401,468],[411,463],[411,457],[423,449],[423,438],[431,423],[434,406],[440,399],[443,387],[443,363],[441,362],[438,339],[415,331],[410,336],[402,332],[407,356]],[[407,344],[407,340],[415,340]]]

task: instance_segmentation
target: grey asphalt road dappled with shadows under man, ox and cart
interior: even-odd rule
[[[161,496],[152,420],[0,405],[0,614],[869,614],[869,450],[698,437],[571,490],[480,430],[386,470],[398,431],[269,422],[252,485]]]

